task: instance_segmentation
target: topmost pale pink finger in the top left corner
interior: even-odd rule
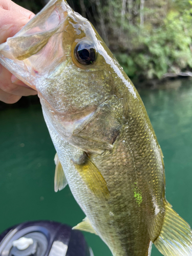
[[[35,14],[33,12],[31,12],[31,11],[13,3],[10,0],[1,1],[1,7],[5,10],[10,10],[10,11],[20,13],[20,14],[26,16],[29,19],[35,16]]]

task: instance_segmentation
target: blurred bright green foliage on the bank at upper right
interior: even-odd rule
[[[179,2],[180,3],[180,2]],[[176,4],[176,3],[175,3]],[[189,3],[188,3],[189,4]],[[192,5],[192,1],[190,1]],[[137,28],[140,48],[116,53],[124,71],[131,78],[161,78],[167,72],[192,68],[192,9],[169,9],[163,24]],[[131,30],[130,30],[131,31]],[[132,37],[130,35],[130,37]]]

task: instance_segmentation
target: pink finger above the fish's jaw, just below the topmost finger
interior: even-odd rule
[[[5,42],[8,37],[14,36],[19,30],[29,22],[29,18],[0,8],[0,44]]]

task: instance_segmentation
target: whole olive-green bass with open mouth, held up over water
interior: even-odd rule
[[[0,45],[0,62],[38,92],[67,184],[113,256],[192,255],[192,231],[165,198],[163,154],[143,102],[92,24],[51,0]]]

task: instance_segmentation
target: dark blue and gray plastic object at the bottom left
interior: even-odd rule
[[[32,239],[25,249],[13,246],[20,238]],[[24,240],[25,241],[25,240]],[[0,256],[94,256],[83,234],[53,221],[18,224],[0,234]]]

